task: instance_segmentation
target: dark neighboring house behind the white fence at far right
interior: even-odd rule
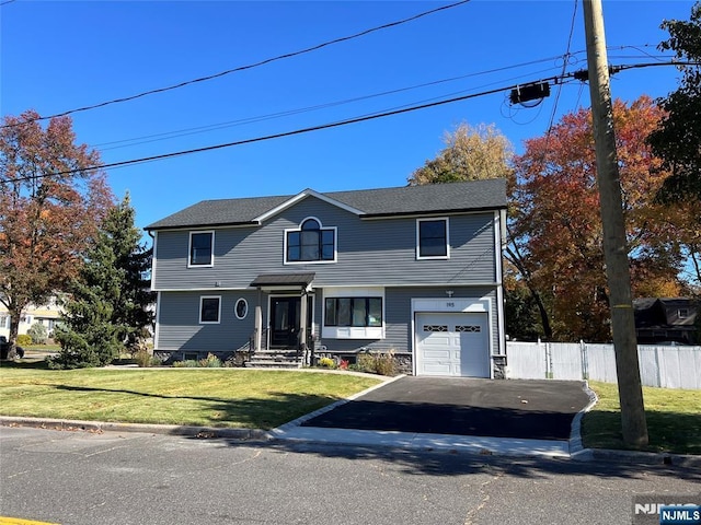
[[[685,298],[644,298],[633,301],[635,334],[641,345],[657,342],[701,342],[699,337],[699,302]]]

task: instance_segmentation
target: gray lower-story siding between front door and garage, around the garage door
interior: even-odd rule
[[[490,298],[493,305],[492,335],[495,350],[498,345],[498,311],[496,304],[496,290],[485,287],[452,288],[453,299],[460,298]],[[321,294],[317,292],[319,298]],[[432,299],[446,296],[445,288],[388,288],[384,290],[384,339],[330,339],[323,338],[320,345],[326,347],[329,352],[349,352],[360,347],[372,350],[395,352],[412,351],[412,299]],[[322,323],[321,304],[318,301],[317,322]],[[319,334],[319,331],[317,331]]]

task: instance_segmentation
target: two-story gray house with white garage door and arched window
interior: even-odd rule
[[[506,183],[207,200],[160,220],[154,351],[353,357],[503,376]]]

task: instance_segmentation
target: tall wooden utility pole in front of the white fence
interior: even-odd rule
[[[637,360],[601,0],[584,0],[584,27],[623,441],[628,445],[641,447],[647,445],[647,423]]]

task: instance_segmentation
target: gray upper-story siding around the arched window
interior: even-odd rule
[[[336,262],[284,264],[285,230],[297,229],[308,217],[337,229]],[[494,282],[493,220],[491,212],[450,215],[450,259],[416,260],[415,218],[360,220],[308,197],[261,226],[215,229],[212,268],[187,268],[189,230],[158,232],[153,285],[243,289],[260,273],[307,271],[315,273],[314,287]]]

